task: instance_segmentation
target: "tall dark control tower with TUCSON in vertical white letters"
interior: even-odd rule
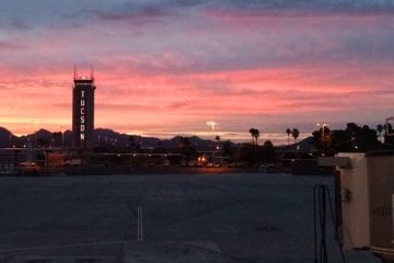
[[[94,76],[79,75],[74,68],[72,89],[72,146],[92,149],[94,139]]]

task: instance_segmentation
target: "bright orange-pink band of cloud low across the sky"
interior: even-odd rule
[[[366,68],[371,76],[364,73]],[[116,73],[97,70],[96,126],[123,127],[119,132],[134,127],[166,129],[185,122],[204,126],[206,118],[231,116],[243,126],[250,123],[245,121],[250,116],[260,116],[256,121],[264,123],[267,115],[305,116],[305,122],[313,122],[324,114],[325,118],[341,119],[345,112],[352,115],[357,108],[379,111],[390,104],[394,75],[385,70],[378,79],[378,72],[379,68],[367,66],[316,65],[129,77],[125,71],[116,78]],[[69,127],[72,72],[50,78],[38,72],[22,80],[19,76],[8,75],[0,89],[7,102],[0,105],[1,125],[18,133],[32,132],[34,119],[40,119],[43,127]],[[381,104],[376,105],[376,101]]]

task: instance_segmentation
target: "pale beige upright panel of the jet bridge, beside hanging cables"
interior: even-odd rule
[[[364,153],[339,152],[338,159],[349,158],[350,165],[340,171],[341,233],[344,248],[363,249],[370,245],[370,217],[367,159]]]

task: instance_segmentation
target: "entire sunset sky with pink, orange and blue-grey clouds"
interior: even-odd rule
[[[121,133],[374,127],[394,115],[394,1],[1,1],[0,126],[69,129],[74,65],[95,69],[95,126]]]

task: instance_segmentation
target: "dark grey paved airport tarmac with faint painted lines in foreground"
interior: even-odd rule
[[[313,262],[317,183],[333,184],[281,174],[0,178],[0,262]],[[340,262],[328,231],[329,262]]]

